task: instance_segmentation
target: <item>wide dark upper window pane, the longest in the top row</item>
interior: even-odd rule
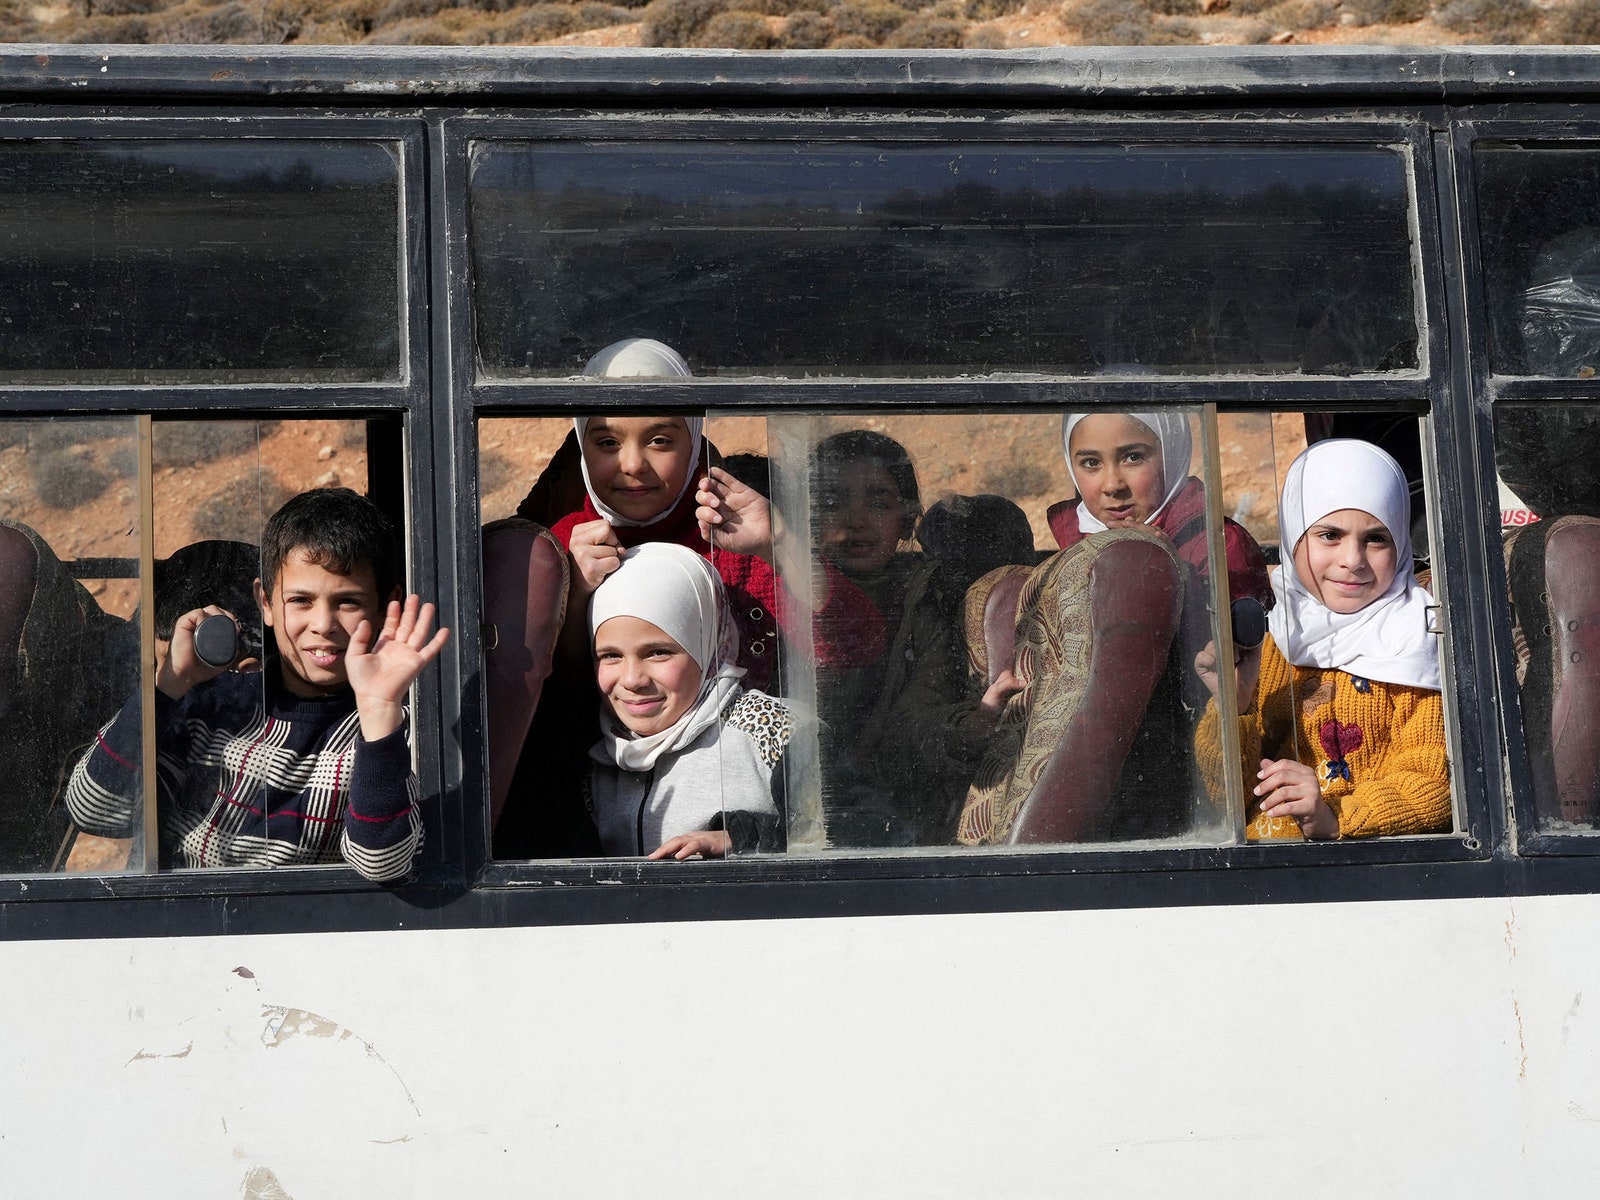
[[[1382,146],[480,141],[485,379],[619,331],[699,376],[1414,371]]]

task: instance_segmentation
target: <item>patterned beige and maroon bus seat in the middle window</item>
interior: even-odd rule
[[[1141,770],[1134,787],[1122,778],[1130,754],[1157,733],[1168,744],[1146,746],[1142,763],[1165,757],[1170,768],[1182,754],[1170,744],[1171,730],[1149,718],[1157,686],[1165,680],[1174,690],[1168,677],[1182,602],[1184,571],[1171,544],[1142,528],[1091,534],[1034,568],[1022,586],[1002,568],[973,587],[968,634],[986,643],[974,664],[986,677],[1011,666],[1024,690],[984,752],[962,811],[962,842],[1101,840],[1122,835],[1130,821],[1150,824],[1138,811],[1146,797],[1181,794],[1187,802],[1187,779],[1142,786]]]

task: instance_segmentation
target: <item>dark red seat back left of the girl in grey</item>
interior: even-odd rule
[[[490,819],[499,824],[566,618],[566,552],[542,525],[483,526],[483,682]]]

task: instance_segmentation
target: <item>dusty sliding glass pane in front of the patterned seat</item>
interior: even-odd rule
[[[1197,443],[1182,410],[768,418],[790,853],[1227,838]]]

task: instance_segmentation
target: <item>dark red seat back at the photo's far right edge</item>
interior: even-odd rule
[[[1523,526],[1509,552],[1526,640],[1523,731],[1541,821],[1600,819],[1600,520]]]

